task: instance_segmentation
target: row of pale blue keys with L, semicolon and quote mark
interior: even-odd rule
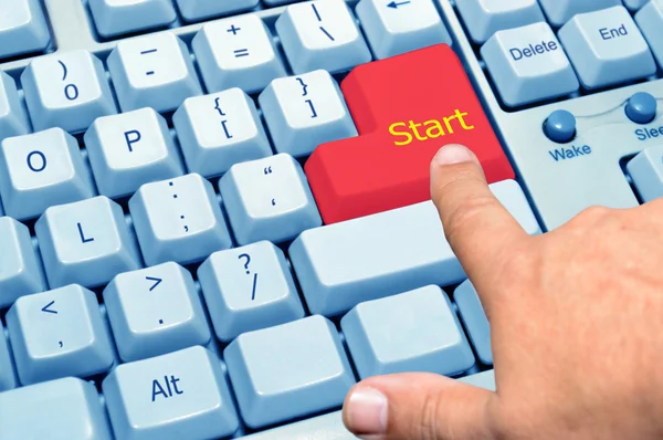
[[[42,159],[40,166],[45,163]],[[322,224],[304,172],[288,155],[238,164],[221,179],[219,189],[240,244],[288,241]],[[35,200],[44,201],[42,192]],[[10,213],[11,201],[4,198]],[[94,287],[141,268],[143,261],[147,265],[189,264],[232,245],[214,189],[200,175],[146,184],[129,199],[128,208],[133,229],[119,205],[105,196],[48,208],[34,229],[49,285]],[[0,306],[6,306],[20,294],[43,290],[43,283],[28,229],[11,218],[1,220],[0,243],[9,250],[7,259],[0,256]]]

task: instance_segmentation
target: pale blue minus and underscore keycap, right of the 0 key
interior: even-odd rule
[[[123,40],[106,63],[123,112],[171,112],[202,94],[189,50],[171,32]]]

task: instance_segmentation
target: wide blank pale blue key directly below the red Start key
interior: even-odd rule
[[[527,233],[540,232],[515,180],[491,189]],[[291,244],[290,256],[311,313],[326,316],[364,301],[465,279],[431,201],[309,229]]]

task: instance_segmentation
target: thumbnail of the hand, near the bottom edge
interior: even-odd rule
[[[362,439],[387,432],[387,398],[377,389],[358,387],[345,408],[348,429]]]

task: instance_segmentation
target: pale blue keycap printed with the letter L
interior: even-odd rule
[[[122,208],[103,196],[49,208],[34,231],[51,287],[95,287],[143,266]]]

